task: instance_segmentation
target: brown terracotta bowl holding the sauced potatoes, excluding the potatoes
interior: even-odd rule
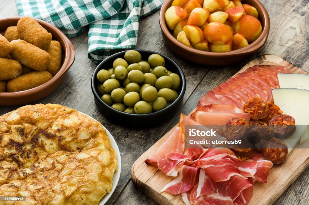
[[[224,66],[230,65],[236,62],[247,59],[250,55],[254,54],[260,50],[266,43],[269,34],[270,19],[267,10],[259,0],[243,0],[243,4],[249,4],[256,8],[259,13],[259,20],[262,24],[262,34],[254,42],[249,44],[249,46],[233,50],[225,53],[215,53],[208,51],[201,51],[194,48],[189,48],[178,42],[176,38],[172,35],[171,30],[169,30],[165,24],[165,11],[171,6],[173,0],[165,0],[162,4],[159,22],[162,31],[163,38],[168,47],[173,50],[176,54],[180,55],[189,61],[209,65],[209,66]]]

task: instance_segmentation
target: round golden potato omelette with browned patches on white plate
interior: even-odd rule
[[[112,190],[117,159],[105,129],[72,108],[2,115],[0,142],[0,196],[26,197],[14,204],[98,204]]]

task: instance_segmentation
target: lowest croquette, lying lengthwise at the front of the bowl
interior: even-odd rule
[[[52,79],[52,75],[48,71],[34,71],[10,80],[7,83],[7,91],[19,92],[29,90],[44,84],[50,79]]]

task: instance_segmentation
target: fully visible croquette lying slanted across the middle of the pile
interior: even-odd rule
[[[11,41],[11,57],[34,70],[47,70],[50,56],[45,51],[23,40]]]

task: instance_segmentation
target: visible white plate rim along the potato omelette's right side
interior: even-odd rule
[[[79,112],[79,111],[78,111],[78,112]],[[82,112],[80,112],[80,113],[82,113]],[[83,115],[86,115],[85,113],[82,113],[82,114],[83,114]],[[87,117],[90,117],[89,115],[86,115],[86,116],[87,116]],[[92,117],[90,117],[90,118],[93,119]],[[95,119],[93,119],[93,120],[95,120]],[[97,121],[97,120],[95,120],[95,121]],[[102,126],[103,126],[103,125],[102,125]],[[103,127],[104,127],[104,126],[103,126]],[[117,158],[117,161],[118,161],[118,166],[117,166],[117,171],[115,171],[115,174],[114,174],[114,176],[113,176],[113,188],[112,188],[112,191],[111,191],[109,194],[105,195],[105,196],[101,199],[99,205],[105,204],[105,203],[108,201],[108,199],[111,198],[111,196],[112,196],[112,194],[114,193],[114,191],[115,191],[115,189],[116,189],[116,186],[117,186],[117,184],[118,184],[118,182],[119,182],[119,179],[120,179],[120,172],[121,172],[121,156],[120,156],[120,151],[119,151],[118,145],[117,145],[115,139],[113,138],[112,134],[111,134],[105,127],[104,127],[104,129],[105,129],[105,131],[106,131],[106,134],[107,134],[109,140],[111,141],[112,148],[113,148],[113,149],[115,150],[115,152],[116,152],[116,158]]]

